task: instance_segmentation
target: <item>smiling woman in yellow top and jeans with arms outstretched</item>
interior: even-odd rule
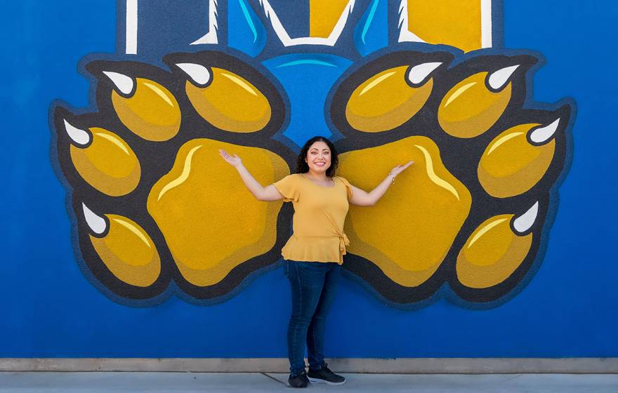
[[[408,166],[395,166],[372,192],[350,185],[335,175],[338,154],[322,136],[305,142],[296,160],[296,173],[263,187],[242,164],[237,154],[221,156],[234,166],[247,189],[260,201],[292,202],[294,234],[282,248],[284,267],[292,292],[292,312],[287,332],[290,361],[289,385],[306,387],[311,382],[342,384],[346,379],[324,363],[324,326],[334,300],[343,255],[350,244],[343,224],[350,204],[373,206],[395,177]],[[305,340],[309,372],[305,373]]]

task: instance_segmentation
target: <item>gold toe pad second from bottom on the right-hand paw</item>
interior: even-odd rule
[[[523,194],[543,178],[555,152],[555,140],[532,145],[527,135],[540,124],[520,124],[498,135],[478,164],[478,180],[489,195]]]

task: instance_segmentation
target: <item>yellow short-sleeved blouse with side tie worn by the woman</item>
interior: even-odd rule
[[[352,189],[344,178],[334,176],[333,181],[334,186],[324,187],[295,173],[274,183],[284,201],[294,204],[294,234],[282,248],[284,259],[343,263],[350,244],[343,222]]]

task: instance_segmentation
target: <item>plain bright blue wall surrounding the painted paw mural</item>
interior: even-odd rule
[[[0,17],[0,357],[285,357],[289,288],[281,269],[220,305],[110,301],[74,260],[65,189],[49,159],[48,107],[88,105],[84,55],[113,53],[110,0],[8,2]],[[504,0],[504,46],[542,53],[534,98],[577,102],[572,168],[546,257],[500,307],[440,300],[380,304],[343,280],[327,326],[329,357],[617,357],[618,78],[612,0]],[[231,40],[231,37],[230,37]]]

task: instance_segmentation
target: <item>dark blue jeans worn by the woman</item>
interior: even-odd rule
[[[305,340],[309,367],[324,365],[324,326],[333,303],[341,265],[335,262],[284,261],[292,291],[292,314],[287,330],[290,373],[305,369]]]

